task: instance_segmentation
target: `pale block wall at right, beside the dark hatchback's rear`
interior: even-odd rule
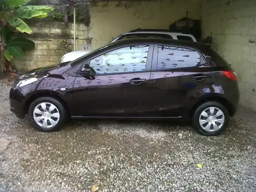
[[[256,1],[204,0],[202,32],[237,72],[242,105],[256,111]]]

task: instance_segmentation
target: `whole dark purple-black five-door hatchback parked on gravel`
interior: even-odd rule
[[[237,76],[209,45],[166,39],[113,42],[14,82],[11,111],[36,129],[71,118],[183,119],[222,133],[238,109]]]

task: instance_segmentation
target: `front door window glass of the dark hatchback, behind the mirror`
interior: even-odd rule
[[[149,45],[123,47],[90,61],[96,74],[145,71]]]

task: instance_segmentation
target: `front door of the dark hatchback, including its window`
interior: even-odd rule
[[[76,77],[73,116],[143,117],[150,97],[153,47],[120,47],[89,59],[95,79]]]

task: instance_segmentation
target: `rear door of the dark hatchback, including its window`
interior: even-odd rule
[[[150,86],[161,117],[179,117],[207,90],[211,72],[193,48],[156,44]]]

